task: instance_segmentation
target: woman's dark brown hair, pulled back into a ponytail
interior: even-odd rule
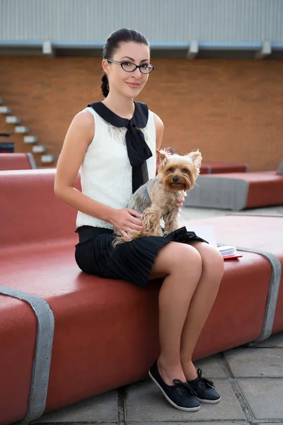
[[[127,28],[121,28],[110,34],[105,45],[103,47],[103,59],[112,59],[116,50],[119,49],[121,42],[139,42],[149,47],[149,40],[136,30],[128,30]],[[101,90],[104,97],[108,96],[109,93],[109,82],[106,74],[102,77]]]

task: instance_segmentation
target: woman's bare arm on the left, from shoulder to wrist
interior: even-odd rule
[[[88,198],[74,188],[83,157],[93,140],[95,125],[88,111],[79,112],[71,122],[57,162],[54,193],[57,198],[71,207],[92,215],[100,220],[111,222],[114,209]]]

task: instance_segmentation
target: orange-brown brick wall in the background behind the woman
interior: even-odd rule
[[[156,69],[138,101],[165,125],[163,146],[199,148],[204,161],[277,169],[283,157],[283,61],[152,60]],[[30,135],[59,155],[73,116],[101,100],[101,60],[91,57],[0,57],[0,97]],[[12,130],[0,116],[0,131]],[[31,152],[22,135],[16,152]],[[40,155],[35,155],[40,166]],[[54,164],[52,165],[54,166]]]

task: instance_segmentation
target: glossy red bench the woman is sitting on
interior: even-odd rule
[[[0,171],[1,425],[143,379],[158,356],[161,281],[81,272],[76,210],[54,196],[54,174]],[[258,339],[271,279],[260,254],[225,263],[194,359]]]

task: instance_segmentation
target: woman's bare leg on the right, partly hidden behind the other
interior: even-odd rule
[[[187,380],[197,378],[197,371],[192,364],[192,352],[212,309],[224,274],[224,260],[216,249],[204,242],[190,244],[202,256],[202,276],[192,296],[181,336],[180,358]]]

